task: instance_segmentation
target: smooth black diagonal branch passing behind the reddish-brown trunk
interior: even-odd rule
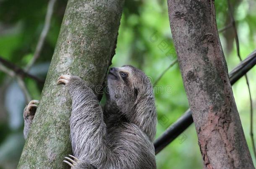
[[[248,57],[239,63],[230,73],[230,83],[233,85],[241,77],[243,77],[253,66],[256,65],[256,50],[254,50]],[[176,139],[185,129],[193,123],[192,113],[188,109],[175,123],[168,127],[168,129],[154,141],[155,153],[159,153],[170,142]]]

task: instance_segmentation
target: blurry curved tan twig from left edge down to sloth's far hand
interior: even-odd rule
[[[6,68],[2,63],[0,63],[0,70],[8,74],[10,77],[17,79],[18,85],[24,93],[26,103],[29,103],[29,101],[31,100],[31,96],[29,95],[29,92],[22,78],[19,77],[13,70]]]

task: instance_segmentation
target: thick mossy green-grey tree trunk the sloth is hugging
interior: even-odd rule
[[[42,98],[26,140],[19,169],[69,168],[64,156],[72,154],[69,140],[71,99],[63,74],[80,76],[101,96],[115,45],[123,0],[69,0]],[[99,86],[97,86],[99,85]]]

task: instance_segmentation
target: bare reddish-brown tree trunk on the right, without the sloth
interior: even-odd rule
[[[168,0],[170,27],[204,168],[252,169],[213,0]]]

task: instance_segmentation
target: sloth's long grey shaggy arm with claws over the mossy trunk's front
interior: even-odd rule
[[[79,159],[73,168],[88,163],[91,168],[102,168],[110,150],[106,145],[107,128],[97,96],[77,76],[60,76],[57,83],[65,84],[72,98],[70,139],[73,154]]]

